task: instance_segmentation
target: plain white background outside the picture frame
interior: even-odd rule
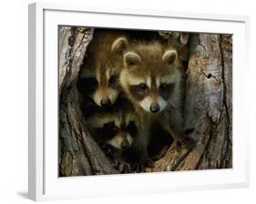
[[[28,203],[27,190],[27,4],[33,1],[5,0],[0,5],[0,203]],[[201,13],[251,15],[251,36],[256,38],[256,6],[252,0],[72,0],[52,1],[125,8],[165,9]],[[251,67],[248,72],[248,106],[251,116],[251,187],[177,192],[160,195],[117,197],[112,199],[72,200],[75,203],[255,203],[256,201],[256,139],[253,135],[255,112],[255,38],[251,39]],[[251,70],[250,70],[251,69]],[[254,69],[254,70],[253,70]],[[57,201],[54,203],[68,203]]]

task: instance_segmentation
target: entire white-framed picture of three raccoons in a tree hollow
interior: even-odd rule
[[[248,186],[248,26],[29,5],[29,198]]]

